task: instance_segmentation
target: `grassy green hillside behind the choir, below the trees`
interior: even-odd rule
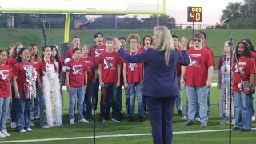
[[[104,38],[107,37],[127,37],[129,34],[135,33],[142,38],[145,35],[153,35],[152,29],[92,29],[90,30],[90,35],[95,32],[102,31]],[[199,30],[195,30],[199,31]],[[218,56],[223,53],[223,45],[226,40],[229,40],[229,36],[226,29],[210,29],[202,30],[207,34],[206,44],[211,46],[214,50],[215,63],[218,66]],[[186,38],[192,37],[192,30],[179,30],[171,29],[171,34],[178,35],[179,38],[185,36]],[[255,44],[254,39],[256,39],[256,29],[231,29],[232,38],[234,40],[234,46],[241,41],[242,38],[250,38]],[[24,46],[29,46],[30,43],[38,44],[39,50],[43,46],[42,29],[4,29],[0,28],[0,48],[6,50],[6,47],[10,44],[16,42],[22,42]],[[85,30],[70,30],[70,42],[74,35],[78,35],[81,38],[81,46],[84,43],[89,45],[92,44],[90,41],[89,34]],[[59,47],[61,43],[64,42],[64,29],[46,29],[46,39],[48,45],[57,44]],[[128,46],[128,45],[127,45]],[[217,67],[214,67],[217,70]]]

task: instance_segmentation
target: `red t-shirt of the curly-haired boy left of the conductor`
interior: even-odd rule
[[[130,55],[136,55],[136,52],[130,52],[129,50],[126,50],[127,54]],[[137,54],[141,54],[142,51],[138,51]],[[127,81],[128,83],[134,83],[134,82],[142,82],[143,80],[143,62],[140,63],[128,63],[123,60],[124,63],[126,63],[126,70],[127,70]],[[134,67],[134,70],[132,71],[132,66]]]

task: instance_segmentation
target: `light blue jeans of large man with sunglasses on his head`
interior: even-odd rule
[[[208,121],[207,117],[207,94],[209,88],[206,86],[186,86],[186,94],[189,102],[188,118],[194,122],[199,104],[199,116],[201,123]]]

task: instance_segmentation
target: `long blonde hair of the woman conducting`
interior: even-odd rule
[[[166,26],[156,26],[154,27],[154,36],[159,40],[154,45],[154,50],[165,51],[165,62],[167,66],[170,66],[170,50],[174,50],[174,42],[170,30]]]

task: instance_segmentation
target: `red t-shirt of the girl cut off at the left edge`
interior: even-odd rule
[[[0,66],[0,98],[10,96],[10,84],[8,79],[12,77],[10,66],[4,64]]]

